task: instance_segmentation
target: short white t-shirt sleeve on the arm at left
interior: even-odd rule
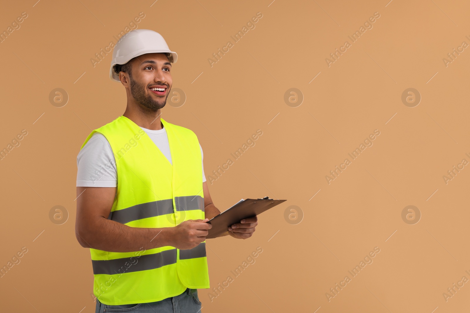
[[[77,187],[116,187],[118,174],[111,145],[98,132],[86,142],[77,156]]]

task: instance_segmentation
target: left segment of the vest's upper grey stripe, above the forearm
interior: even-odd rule
[[[108,217],[108,220],[125,224],[130,221],[171,213],[173,213],[173,199],[165,199],[141,203],[122,210],[112,211]]]

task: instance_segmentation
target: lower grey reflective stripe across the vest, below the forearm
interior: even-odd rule
[[[180,260],[202,258],[206,256],[205,243],[188,250],[180,250]],[[176,249],[154,254],[141,255],[114,260],[92,260],[93,274],[124,274],[145,271],[176,263]]]

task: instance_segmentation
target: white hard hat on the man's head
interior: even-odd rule
[[[176,63],[178,59],[176,52],[170,51],[165,39],[156,31],[132,30],[122,36],[114,47],[110,78],[120,82],[119,73],[114,71],[114,66],[125,64],[132,58],[145,53],[165,53],[172,63]]]

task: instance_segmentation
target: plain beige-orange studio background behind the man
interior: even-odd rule
[[[158,31],[178,53],[173,88],[187,97],[162,117],[196,133],[208,180],[263,131],[210,184],[214,204],[223,211],[240,198],[288,200],[259,216],[250,239],[207,240],[211,287],[258,246],[263,252],[212,302],[211,290],[199,290],[203,312],[464,312],[470,283],[447,301],[443,293],[470,279],[470,169],[447,184],[443,176],[470,161],[469,48],[447,67],[443,58],[470,44],[469,10],[443,0],[4,4],[1,31],[28,17],[0,43],[0,148],[28,134],[0,161],[0,266],[28,252],[0,278],[2,310],[94,312],[90,252],[74,233],[76,157],[91,130],[123,114],[126,99],[109,78],[112,54],[95,67],[90,59],[143,12],[138,29]],[[255,28],[211,67],[212,53],[257,12]],[[373,28],[352,43],[348,35],[374,12]],[[351,47],[328,67],[325,58],[346,40]],[[55,88],[69,96],[63,107],[49,102]],[[300,106],[284,102],[290,88],[302,92]],[[401,100],[407,88],[421,94],[415,107]],[[329,171],[376,129],[373,145],[328,184]],[[61,225],[49,219],[57,205],[69,214]],[[409,205],[421,212],[414,225],[401,217]],[[290,206],[297,220],[284,218]],[[373,263],[352,278],[348,270],[374,247]],[[328,301],[346,275],[351,282]]]

